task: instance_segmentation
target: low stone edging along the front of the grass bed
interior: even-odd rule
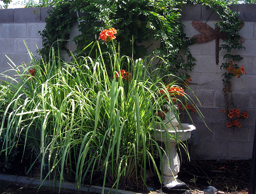
[[[0,174],[0,183],[12,184],[12,185],[19,185],[19,186],[30,186],[30,187],[39,187],[41,185],[40,179],[36,178],[29,178],[29,177],[22,177],[22,176],[15,176],[15,175],[4,175]],[[51,186],[52,185],[52,186]],[[49,190],[49,186],[53,188],[53,181],[45,180],[44,184],[40,186],[41,189]],[[59,181],[56,181],[55,189],[59,189]],[[83,185],[79,191],[90,193],[101,193],[102,187],[100,186],[93,186],[93,185]],[[60,191],[64,192],[74,192],[77,191],[77,186],[75,183],[69,182],[62,182]],[[105,187],[104,193],[114,194],[116,193],[115,189]],[[118,194],[141,194],[132,191],[125,191],[118,189]]]

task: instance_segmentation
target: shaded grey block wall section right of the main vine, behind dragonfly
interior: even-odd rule
[[[220,62],[216,65],[215,40],[190,46],[191,53],[197,59],[197,65],[190,72],[192,83],[195,85],[189,86],[201,101],[200,110],[212,131],[205,127],[200,117],[191,114],[197,127],[198,144],[194,148],[198,160],[248,159],[252,156],[256,115],[256,5],[233,5],[232,9],[240,12],[240,19],[245,23],[240,35],[245,39],[242,44],[246,48],[237,52],[244,58],[238,64],[244,65],[246,75],[232,80],[234,105],[240,111],[247,110],[249,118],[242,120],[241,128],[232,130],[226,127],[226,117],[221,112],[225,107],[222,92],[222,75],[225,70],[220,69],[225,52],[220,52]],[[205,22],[215,29],[215,22],[220,18],[204,6],[186,6],[182,11],[182,20],[187,37],[193,37],[200,34],[191,26],[193,20]],[[220,44],[221,42],[222,40]]]

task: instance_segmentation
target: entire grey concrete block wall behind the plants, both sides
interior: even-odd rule
[[[16,65],[30,62],[28,52],[23,43],[26,41],[35,56],[37,47],[41,48],[41,37],[38,31],[45,28],[47,9],[24,8],[0,10],[0,72],[10,68],[10,57]],[[253,135],[256,112],[256,5],[233,5],[234,11],[240,12],[240,19],[245,22],[241,36],[245,41],[245,51],[240,51],[244,59],[239,63],[244,65],[246,75],[234,78],[234,104],[241,111],[247,110],[249,118],[242,120],[242,127],[234,130],[226,127],[226,117],[221,111],[225,107],[222,92],[222,74],[220,65],[215,63],[215,40],[203,44],[190,46],[190,51],[197,59],[195,69],[190,72],[193,85],[189,85],[201,102],[205,122],[192,113],[197,127],[197,141],[195,145],[195,159],[249,159],[252,156]],[[37,11],[35,14],[34,11]],[[219,17],[205,6],[185,6],[181,19],[185,25],[187,37],[200,34],[191,26],[193,20],[206,22],[212,28]],[[76,27],[71,29],[72,37],[78,35]],[[221,41],[220,41],[221,44]],[[68,43],[71,51],[75,50],[74,42]],[[220,64],[223,62],[224,52],[220,52]],[[10,63],[10,62],[9,62]]]

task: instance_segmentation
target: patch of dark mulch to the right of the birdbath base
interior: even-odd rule
[[[179,178],[190,189],[214,186],[221,191],[248,190],[251,160],[206,160],[181,164]],[[196,180],[196,181],[194,181]]]

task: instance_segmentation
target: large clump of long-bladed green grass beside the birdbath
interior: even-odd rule
[[[105,185],[118,189],[120,183],[124,188],[127,182],[145,181],[148,164],[161,181],[156,158],[162,162],[163,149],[154,134],[162,121],[156,113],[180,100],[174,101],[157,71],[150,71],[151,63],[118,55],[114,44],[111,53],[102,54],[99,43],[94,44],[95,59],[65,62],[52,51],[49,61],[39,63],[28,50],[29,67],[10,60],[16,77],[2,75],[10,82],[0,91],[1,154],[8,156],[17,145],[24,153],[30,149],[35,158],[27,173],[40,161],[42,184],[53,179],[61,186],[74,177],[79,188],[96,180],[103,193]],[[182,98],[191,101],[185,92]]]

